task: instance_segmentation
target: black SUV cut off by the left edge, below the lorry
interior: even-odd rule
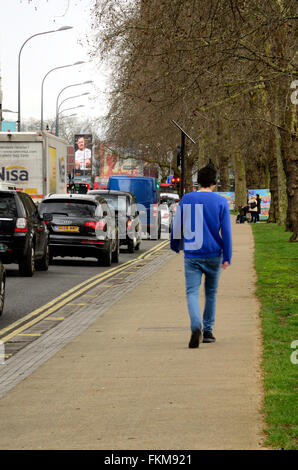
[[[49,233],[31,197],[20,191],[0,191],[0,259],[18,263],[22,276],[49,266]]]

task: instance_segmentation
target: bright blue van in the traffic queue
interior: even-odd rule
[[[160,197],[155,178],[146,176],[110,176],[108,189],[134,194],[138,204],[143,231],[145,229],[151,238],[160,238]]]

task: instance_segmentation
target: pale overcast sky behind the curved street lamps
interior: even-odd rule
[[[41,85],[53,68],[89,61],[87,36],[90,36],[90,6],[93,0],[0,0],[0,67],[3,109],[17,111],[18,54],[24,41],[43,31],[73,26],[73,29],[32,38],[21,53],[21,120],[41,116]],[[44,122],[56,114],[56,100],[66,86],[93,80],[93,85],[71,87],[61,95],[65,98],[90,92],[66,101],[61,109],[80,104],[84,108],[70,110],[96,117],[104,113],[107,72],[98,70],[93,62],[51,72],[44,82]],[[96,98],[96,89],[100,90]],[[91,99],[90,99],[91,98]],[[16,114],[3,113],[5,120]]]

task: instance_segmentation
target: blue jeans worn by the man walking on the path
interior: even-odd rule
[[[205,309],[203,314],[204,331],[212,332],[215,321],[216,291],[221,271],[222,257],[216,258],[184,258],[185,284],[190,328],[200,328],[202,320],[199,303],[199,288],[202,274],[205,274]]]

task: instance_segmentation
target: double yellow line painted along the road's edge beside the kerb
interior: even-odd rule
[[[114,276],[115,274],[119,274],[120,272],[124,271],[127,267],[133,266],[137,263],[139,263],[141,260],[145,260],[149,258],[150,256],[154,255],[158,251],[160,251],[162,248],[165,248],[165,246],[168,244],[168,240],[159,243],[158,245],[154,246],[150,250],[146,251],[146,253],[138,256],[137,258],[127,261],[126,263],[122,264],[121,266],[116,266],[115,268],[111,268],[108,270],[108,272],[104,272],[102,274],[97,274],[96,276],[93,276],[86,281],[82,282],[81,284],[78,284],[75,287],[72,287],[68,291],[64,292],[63,294],[59,295],[55,299],[51,300],[47,304],[43,305],[42,307],[37,308],[33,312],[29,313],[25,317],[21,318],[20,320],[17,320],[16,322],[12,323],[8,327],[0,330],[0,340],[2,343],[6,343],[9,341],[11,338],[14,336],[17,336],[21,334],[23,331],[27,330],[31,326],[35,325],[36,323],[40,322],[47,316],[51,315],[53,312],[59,310],[60,308],[64,307],[66,304],[74,300],[76,297],[79,297],[80,295],[84,294],[86,291],[91,289],[92,287],[95,287],[97,284],[101,283],[102,281],[105,281],[106,279],[109,279],[110,277]],[[19,326],[21,325],[21,326]],[[7,332],[13,330],[11,333],[8,333],[6,336],[5,335]]]

